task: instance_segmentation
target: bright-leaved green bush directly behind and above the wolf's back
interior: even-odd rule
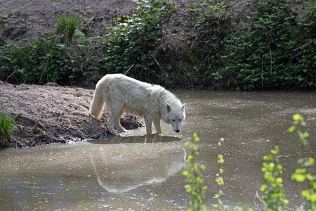
[[[162,25],[174,11],[171,1],[138,1],[126,19],[114,19],[103,37],[103,67],[107,73],[129,72],[147,82],[163,77],[155,71],[155,49],[162,41]]]

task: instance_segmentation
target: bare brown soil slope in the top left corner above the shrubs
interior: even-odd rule
[[[102,36],[104,23],[130,14],[135,7],[131,0],[0,0],[0,44],[51,34],[58,16],[72,14],[90,21],[89,36]]]

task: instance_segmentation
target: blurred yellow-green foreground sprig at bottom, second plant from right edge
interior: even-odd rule
[[[283,179],[281,177],[282,165],[279,164],[279,146],[275,146],[270,151],[271,153],[263,156],[263,181],[265,184],[261,186],[261,191],[266,193],[262,196],[265,202],[265,210],[282,210],[289,203],[289,200],[284,198]]]

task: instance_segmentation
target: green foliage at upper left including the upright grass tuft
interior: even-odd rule
[[[86,51],[81,51],[89,39],[79,33],[78,20],[60,16],[57,22],[58,34],[40,37],[31,44],[22,40],[1,46],[1,71],[6,73],[8,82],[69,84],[74,78],[91,73],[94,67],[86,60]]]

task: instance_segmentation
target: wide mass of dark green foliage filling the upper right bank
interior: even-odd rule
[[[246,20],[227,4],[202,1],[190,38],[197,84],[230,89],[313,89],[316,86],[316,8],[298,19],[286,0],[254,1]]]

